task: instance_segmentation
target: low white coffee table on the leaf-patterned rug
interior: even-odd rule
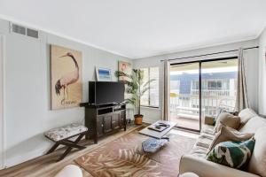
[[[166,142],[168,142],[169,138],[165,135],[168,134],[168,132],[173,128],[176,127],[175,122],[165,121],[165,120],[159,120],[155,122],[153,125],[156,125],[158,123],[164,123],[169,125],[165,130],[158,132],[153,129],[149,129],[148,127],[145,127],[144,129],[140,130],[138,133],[141,135],[147,135],[151,138],[145,140],[145,142],[142,142],[142,147],[145,152],[155,152],[160,149],[161,146],[163,146]],[[151,148],[153,147],[153,148]]]

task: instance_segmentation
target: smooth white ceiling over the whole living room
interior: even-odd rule
[[[0,0],[0,18],[128,58],[254,39],[265,17],[266,0]]]

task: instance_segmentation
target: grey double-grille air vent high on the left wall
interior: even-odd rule
[[[36,39],[39,38],[39,32],[35,29],[23,27],[17,24],[11,23],[11,31],[12,33],[20,34],[20,35],[27,35],[29,37],[34,37]]]

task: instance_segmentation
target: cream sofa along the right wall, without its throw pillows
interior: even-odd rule
[[[252,110],[246,109],[239,112],[239,117],[242,120],[242,125],[238,129],[239,132],[255,134],[259,128],[266,129],[266,119],[256,115]],[[215,164],[206,159],[208,147],[215,136],[214,126],[212,124],[213,118],[206,117],[205,125],[202,128],[200,137],[195,143],[192,152],[189,155],[184,155],[180,160],[179,173],[192,172],[197,173],[200,177],[260,177],[258,174]],[[264,132],[266,131],[264,130]],[[265,144],[266,135],[265,139],[261,138],[261,140],[258,141]],[[254,148],[254,152],[255,150],[256,148]],[[254,156],[254,152],[252,156]]]

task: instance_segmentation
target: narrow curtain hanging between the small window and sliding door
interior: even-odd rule
[[[168,60],[165,60],[162,62],[162,70],[163,70],[163,78],[162,78],[162,83],[163,83],[163,95],[162,95],[162,115],[161,119],[163,120],[168,120],[169,119],[169,83],[170,83],[170,77],[169,77],[169,62]]]

